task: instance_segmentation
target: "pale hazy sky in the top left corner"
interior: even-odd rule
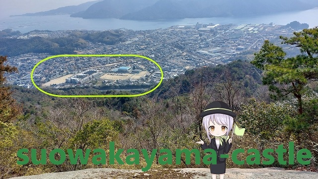
[[[0,16],[40,12],[93,0],[0,0]]]

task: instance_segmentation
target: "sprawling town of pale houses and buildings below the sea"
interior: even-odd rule
[[[45,35],[48,38],[69,36],[76,30],[33,32],[29,35]],[[83,49],[76,49],[80,54],[136,54],[156,61],[163,70],[164,78],[173,78],[196,67],[230,63],[234,60],[248,59],[258,51],[264,40],[269,39],[277,45],[280,35],[290,36],[295,29],[284,29],[275,24],[203,24],[176,25],[166,29],[128,30],[121,29],[125,42],[115,45],[87,42]],[[38,33],[38,34],[37,34]],[[9,63],[19,69],[19,74],[9,74],[9,83],[30,87],[30,74],[34,65],[49,54],[24,54],[9,57]],[[156,65],[148,60],[124,62],[121,58],[62,58],[51,60],[49,64],[38,66],[34,72],[36,83],[47,83],[68,74],[76,74],[67,80],[67,84],[90,83],[107,71],[116,73],[135,73],[142,70],[151,77],[159,72]],[[110,64],[110,65],[109,65]],[[134,64],[138,66],[134,66]],[[142,68],[140,68],[142,67]],[[103,70],[92,70],[92,69]],[[91,73],[91,74],[90,74]],[[22,79],[22,77],[24,77]],[[145,81],[148,80],[147,78]],[[157,81],[158,79],[154,80]],[[145,82],[146,83],[146,82]]]

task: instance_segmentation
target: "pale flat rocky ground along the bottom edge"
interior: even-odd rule
[[[318,173],[281,168],[227,169],[225,179],[318,179]],[[212,179],[210,169],[159,169],[142,172],[123,169],[86,169],[11,179]],[[218,179],[218,177],[217,177]]]

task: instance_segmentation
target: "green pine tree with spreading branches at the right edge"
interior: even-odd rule
[[[270,91],[275,92],[273,98],[294,94],[298,99],[298,112],[302,114],[302,96],[307,91],[306,86],[318,78],[318,28],[304,29],[294,32],[293,37],[280,38],[284,44],[299,47],[303,54],[285,59],[286,53],[281,47],[265,40],[251,63],[264,70],[262,82]]]

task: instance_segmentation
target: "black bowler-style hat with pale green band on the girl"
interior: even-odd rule
[[[226,114],[235,118],[237,114],[233,112],[230,106],[222,101],[214,101],[208,104],[204,111],[200,113],[200,117],[204,117],[210,114]]]

